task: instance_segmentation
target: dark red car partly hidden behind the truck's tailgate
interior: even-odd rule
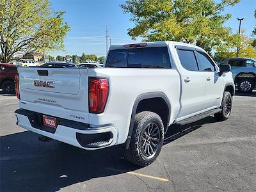
[[[10,63],[0,63],[0,88],[4,93],[15,93],[16,65]]]

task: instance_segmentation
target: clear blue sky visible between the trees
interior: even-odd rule
[[[219,2],[220,0],[215,0]],[[124,14],[120,4],[124,0],[50,0],[51,8],[56,11],[65,11],[63,16],[71,30],[65,38],[65,51],[54,51],[54,56],[67,54],[96,54],[106,55],[106,26],[108,26],[111,45],[134,43],[127,35],[127,29],[134,24],[129,20],[130,15]],[[244,17],[241,28],[246,35],[252,35],[255,26],[253,17],[256,9],[256,0],[242,0],[235,6],[229,6],[223,13],[231,13],[232,19],[225,26],[237,33],[239,22],[237,17]],[[138,38],[135,42],[140,42]]]

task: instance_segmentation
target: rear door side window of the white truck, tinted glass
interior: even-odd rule
[[[177,49],[180,63],[186,70],[198,71],[198,65],[196,63],[194,51]]]

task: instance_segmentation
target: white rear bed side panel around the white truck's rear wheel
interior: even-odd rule
[[[180,79],[177,70],[157,68],[88,69],[90,77],[108,77],[109,97],[104,113],[89,114],[91,125],[113,124],[118,129],[118,143],[127,139],[132,108],[143,93],[162,92],[170,100],[173,117],[179,113]]]

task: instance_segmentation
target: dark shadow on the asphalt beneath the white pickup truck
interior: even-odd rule
[[[164,144],[214,121],[209,116],[193,124],[172,125]],[[0,191],[58,191],[140,168],[124,160],[121,147],[90,151],[54,140],[42,143],[29,131],[1,136],[0,154]]]

